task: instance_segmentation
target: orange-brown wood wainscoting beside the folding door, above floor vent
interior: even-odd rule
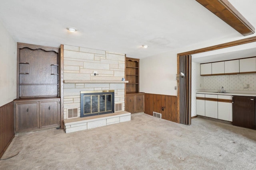
[[[162,119],[177,123],[177,97],[145,93],[144,113],[152,115],[153,111],[161,113]]]

